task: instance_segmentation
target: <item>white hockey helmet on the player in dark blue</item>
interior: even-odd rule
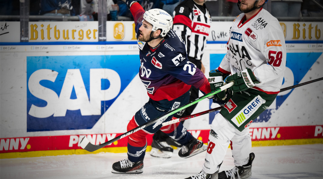
[[[142,21],[146,20],[152,25],[151,31],[161,29],[161,36],[165,37],[173,26],[173,18],[162,9],[151,9],[146,11],[137,22],[142,25]]]

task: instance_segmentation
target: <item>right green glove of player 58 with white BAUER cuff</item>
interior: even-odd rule
[[[228,76],[224,81],[226,83],[234,82],[233,86],[229,88],[233,91],[244,91],[253,88],[255,83],[260,83],[249,68]]]

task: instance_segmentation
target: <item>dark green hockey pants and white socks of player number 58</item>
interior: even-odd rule
[[[219,170],[229,144],[235,166],[248,163],[251,150],[249,124],[276,99],[277,94],[266,94],[254,89],[234,93],[211,124],[204,172]]]

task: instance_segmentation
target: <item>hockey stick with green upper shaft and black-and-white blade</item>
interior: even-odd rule
[[[83,138],[82,138],[82,140],[81,140],[81,142],[80,142],[80,146],[81,146],[83,149],[85,149],[85,150],[87,150],[87,151],[89,151],[89,152],[93,152],[93,151],[95,151],[95,150],[98,150],[98,149],[100,149],[100,148],[102,148],[102,147],[104,147],[104,146],[107,146],[107,145],[109,145],[109,144],[111,144],[111,143],[113,143],[113,142],[115,142],[115,141],[117,141],[117,140],[119,140],[119,139],[121,139],[121,138],[123,138],[123,137],[129,136],[129,135],[130,135],[130,134],[132,134],[132,133],[135,133],[135,132],[137,132],[137,131],[139,131],[139,130],[141,130],[141,129],[145,128],[145,127],[148,127],[148,126],[150,126],[150,125],[152,125],[152,124],[154,124],[154,123],[158,122],[159,120],[161,120],[161,121],[162,121],[164,118],[167,118],[167,117],[169,117],[169,116],[171,116],[171,115],[173,115],[173,114],[175,114],[175,113],[177,113],[177,112],[181,111],[182,109],[185,109],[185,108],[187,108],[187,107],[189,107],[189,106],[192,106],[193,104],[196,104],[196,103],[200,102],[200,101],[201,101],[201,100],[203,100],[203,99],[207,99],[208,97],[213,96],[214,94],[216,94],[216,93],[218,93],[218,92],[220,92],[220,91],[223,91],[223,90],[225,90],[225,89],[227,89],[227,88],[231,87],[232,85],[233,85],[233,82],[228,83],[228,84],[226,84],[226,85],[224,85],[224,86],[222,86],[222,87],[220,87],[220,88],[218,88],[218,89],[216,89],[216,90],[214,90],[214,91],[211,91],[210,93],[207,93],[207,94],[205,94],[205,95],[201,96],[200,98],[194,99],[193,101],[191,101],[191,102],[189,102],[189,103],[187,103],[187,104],[183,105],[182,107],[179,107],[179,108],[176,108],[176,109],[174,109],[174,110],[168,111],[168,112],[167,112],[167,113],[165,113],[164,115],[162,115],[162,116],[160,116],[160,117],[158,117],[158,118],[156,118],[156,119],[153,119],[153,120],[151,120],[151,121],[149,121],[149,122],[147,122],[147,123],[145,123],[145,124],[142,124],[142,125],[140,125],[140,126],[138,126],[138,127],[134,128],[134,129],[132,129],[132,130],[130,130],[130,131],[128,131],[128,132],[126,132],[126,133],[123,133],[123,134],[121,134],[120,136],[115,137],[115,138],[113,138],[113,139],[111,139],[111,140],[109,140],[109,141],[107,141],[107,142],[105,142],[105,143],[102,143],[102,144],[99,144],[99,145],[93,145],[93,144],[91,144],[91,143],[90,143],[90,141],[88,140],[88,138],[87,138],[87,137],[83,137]]]

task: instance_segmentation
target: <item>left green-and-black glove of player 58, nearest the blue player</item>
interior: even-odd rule
[[[227,74],[220,72],[219,70],[212,70],[209,72],[209,83],[211,87],[211,91],[216,90],[224,85],[223,80],[227,77]],[[226,90],[216,93],[214,96],[209,97],[209,99],[213,98],[214,103],[222,104],[226,99]]]

